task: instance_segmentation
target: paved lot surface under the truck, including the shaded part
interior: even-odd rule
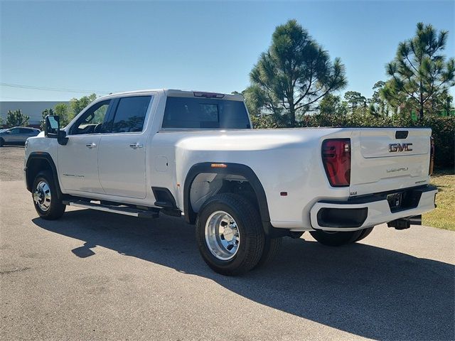
[[[455,233],[305,233],[272,264],[215,274],[182,219],[68,209],[45,221],[0,148],[2,340],[454,340]],[[17,169],[19,167],[19,169]]]

